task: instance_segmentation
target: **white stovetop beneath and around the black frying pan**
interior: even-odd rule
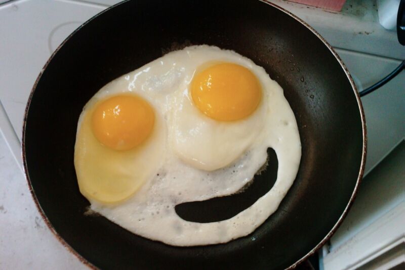
[[[0,269],[85,268],[52,235],[32,201],[21,170],[22,120],[30,89],[53,50],[77,26],[117,2],[19,0],[0,5]],[[378,24],[374,1],[348,0],[342,13],[272,2],[310,23],[338,48],[359,85],[372,84],[405,58],[395,33]],[[378,68],[363,71],[365,63]],[[368,170],[405,134],[404,80],[401,74],[391,88],[363,98]],[[377,105],[385,109],[378,111]]]

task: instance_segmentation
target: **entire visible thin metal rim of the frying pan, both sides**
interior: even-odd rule
[[[101,11],[100,13],[96,14],[95,16],[93,16],[92,18],[90,18],[88,21],[86,21],[85,23],[83,23],[82,25],[80,25],[76,30],[74,30],[57,48],[56,50],[52,53],[51,57],[48,59],[47,63],[44,65],[44,67],[42,68],[41,72],[39,72],[38,77],[35,80],[35,83],[32,87],[31,93],[28,97],[28,101],[27,101],[27,105],[25,107],[25,113],[24,113],[24,120],[23,120],[23,127],[22,127],[22,159],[23,159],[23,165],[24,165],[24,173],[25,173],[25,177],[26,180],[28,182],[28,188],[29,191],[31,193],[32,199],[35,202],[36,208],[38,209],[39,213],[41,214],[41,217],[43,218],[43,220],[45,221],[45,224],[48,226],[48,228],[51,230],[51,232],[55,235],[55,237],[59,240],[59,242],[66,247],[66,249],[72,253],[73,255],[75,255],[83,264],[85,264],[86,266],[88,266],[89,268],[92,269],[98,269],[98,267],[96,267],[95,265],[93,265],[91,262],[89,262],[87,259],[85,259],[82,255],[80,255],[76,250],[74,250],[68,243],[66,243],[66,241],[58,234],[58,232],[56,232],[55,228],[52,226],[52,224],[50,223],[50,221],[48,220],[44,210],[42,209],[41,205],[39,205],[39,202],[36,198],[36,195],[32,189],[32,185],[31,185],[31,180],[29,179],[29,175],[28,175],[28,169],[27,169],[27,163],[26,163],[26,159],[25,159],[25,128],[26,128],[26,121],[27,121],[27,114],[28,114],[28,110],[29,110],[29,106],[31,104],[31,99],[32,96],[35,92],[35,88],[38,84],[39,79],[41,79],[42,74],[44,73],[45,69],[48,67],[48,64],[51,62],[51,60],[54,58],[55,54],[59,51],[59,49],[66,43],[66,41],[68,39],[70,39],[70,37],[72,35],[74,35],[77,31],[79,31],[84,25],[86,25],[87,23],[89,23],[90,21],[92,21],[93,19],[97,18],[98,16],[100,16],[101,14],[103,14],[104,12],[109,11],[110,9],[114,8],[115,6],[118,6],[120,4],[123,4],[127,1],[130,0],[125,0],[123,2],[120,2],[118,4],[115,4],[109,8],[106,8],[105,10]],[[304,255],[302,258],[300,258],[299,260],[297,260],[295,263],[293,263],[290,267],[288,267],[287,269],[294,269],[296,268],[300,263],[302,263],[304,260],[306,260],[309,256],[311,256],[312,254],[314,254],[317,250],[319,250],[323,245],[325,245],[325,243],[332,237],[332,235],[336,232],[336,230],[339,228],[339,226],[341,225],[341,223],[343,222],[343,219],[346,217],[351,205],[353,204],[354,198],[356,197],[357,194],[357,190],[358,190],[358,186],[361,182],[361,179],[363,177],[364,171],[365,171],[365,165],[366,165],[366,153],[367,153],[367,130],[366,130],[366,120],[365,120],[365,114],[364,114],[364,110],[363,110],[363,106],[361,104],[361,100],[360,100],[360,95],[357,92],[357,88],[356,85],[354,84],[354,81],[350,75],[350,72],[348,71],[348,69],[346,68],[345,64],[342,62],[342,60],[340,59],[339,55],[336,53],[336,51],[332,48],[332,46],[328,43],[328,41],[325,40],[325,38],[323,38],[315,29],[313,29],[310,25],[308,25],[306,22],[304,22],[303,20],[301,20],[300,18],[298,18],[296,15],[292,14],[291,12],[273,4],[270,3],[268,0],[259,0],[263,3],[266,3],[284,13],[286,13],[287,15],[291,16],[292,18],[296,19],[298,22],[300,22],[302,25],[304,25],[305,27],[307,27],[312,33],[314,33],[322,42],[323,44],[325,44],[329,50],[333,53],[333,55],[335,56],[336,60],[339,62],[339,64],[342,66],[342,69],[344,70],[344,72],[346,73],[347,78],[350,81],[350,84],[352,86],[354,95],[356,96],[356,100],[357,100],[357,104],[358,104],[358,109],[360,112],[360,118],[361,118],[361,126],[362,126],[362,131],[363,131],[363,151],[362,151],[362,155],[361,155],[361,164],[360,164],[360,170],[358,173],[358,177],[357,177],[357,181],[356,181],[356,185],[354,187],[353,193],[350,197],[350,200],[346,206],[346,208],[344,209],[342,215],[340,216],[339,220],[337,221],[337,223],[335,224],[335,226],[332,228],[332,230],[314,247],[312,248],[306,255]]]

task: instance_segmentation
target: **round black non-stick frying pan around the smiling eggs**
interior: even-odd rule
[[[278,210],[252,234],[226,244],[174,247],[85,215],[89,202],[78,190],[73,149],[78,116],[97,90],[190,44],[232,49],[265,68],[284,88],[295,114],[302,158]],[[45,65],[29,97],[23,130],[25,173],[43,218],[71,252],[101,268],[295,267],[342,222],[365,155],[361,102],[336,52],[294,15],[253,0],[139,0],[107,9],[74,31]],[[276,169],[262,173],[263,188],[271,188]],[[207,205],[207,220],[227,211],[217,211],[215,202]]]

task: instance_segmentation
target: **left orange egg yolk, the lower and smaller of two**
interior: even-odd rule
[[[153,124],[152,107],[136,95],[118,95],[101,101],[92,116],[94,136],[115,150],[140,145],[152,132]]]

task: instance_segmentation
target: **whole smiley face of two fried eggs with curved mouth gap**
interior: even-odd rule
[[[177,215],[177,204],[239,191],[266,164],[268,147],[277,180],[249,208],[211,223]],[[74,151],[92,210],[174,246],[252,233],[286,195],[300,158],[281,87],[251,60],[208,45],[172,51],[101,88],[79,117]]]

